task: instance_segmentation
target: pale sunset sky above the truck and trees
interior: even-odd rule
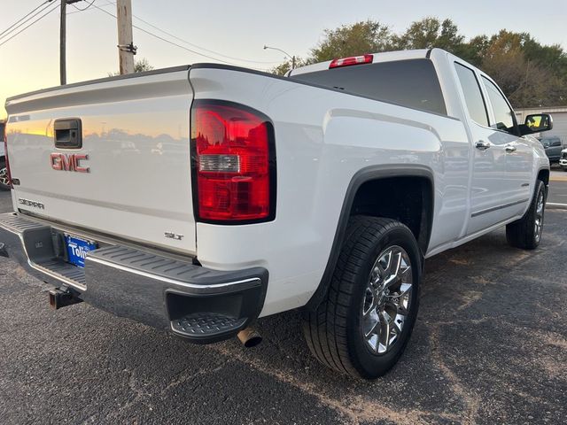
[[[68,82],[105,77],[118,68],[116,19],[97,9],[116,14],[116,6],[113,0],[95,0],[88,7],[90,1],[76,4],[87,8],[84,11],[67,6]],[[42,3],[2,0],[0,32]],[[59,12],[56,0],[52,4],[46,11],[56,10],[12,40],[6,42],[9,37],[0,36],[0,119],[5,116],[6,97],[58,85]],[[377,19],[400,32],[426,16],[453,19],[467,37],[492,35],[507,28],[529,32],[542,43],[558,43],[567,49],[565,0],[548,0],[545,7],[524,0],[132,0],[132,4],[134,25],[185,48],[134,28],[136,58],[147,58],[156,68],[224,61],[267,70],[283,61],[283,54],[263,50],[264,44],[305,56],[325,28]],[[403,7],[397,7],[400,4]]]

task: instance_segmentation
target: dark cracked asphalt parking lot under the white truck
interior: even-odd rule
[[[190,345],[84,303],[51,311],[0,259],[0,422],[565,423],[566,240],[567,211],[548,211],[537,251],[497,231],[428,260],[408,350],[373,383],[315,362],[299,313],[261,320],[254,349]]]

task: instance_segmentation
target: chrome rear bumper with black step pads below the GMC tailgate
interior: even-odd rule
[[[0,243],[8,256],[107,312],[202,344],[236,336],[260,314],[268,288],[265,268],[211,270],[192,259],[108,244],[90,251],[81,268],[61,258],[60,234],[19,214],[0,214]]]

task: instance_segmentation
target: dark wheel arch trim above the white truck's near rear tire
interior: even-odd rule
[[[329,290],[330,280],[337,265],[341,246],[345,240],[348,220],[351,215],[356,215],[356,212],[353,212],[353,206],[357,196],[361,193],[361,189],[368,183],[385,181],[396,182],[402,179],[409,179],[412,181],[419,180],[420,182],[423,182],[423,187],[420,188],[423,196],[422,211],[420,211],[421,222],[417,234],[414,229],[412,229],[412,232],[414,233],[414,236],[416,236],[422,255],[425,255],[431,238],[435,206],[434,174],[431,168],[428,166],[412,164],[369,166],[362,168],[353,175],[353,178],[346,189],[343,206],[335,229],[335,236],[331,246],[329,259],[327,260],[327,265],[322,274],[322,279],[317,290],[315,290],[314,295],[309,299],[307,305],[305,305],[307,310],[314,310],[317,305],[321,303],[327,293],[327,290]]]

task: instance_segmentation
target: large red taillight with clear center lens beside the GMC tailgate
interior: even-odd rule
[[[273,129],[243,105],[196,101],[191,109],[197,219],[255,222],[275,213]]]

